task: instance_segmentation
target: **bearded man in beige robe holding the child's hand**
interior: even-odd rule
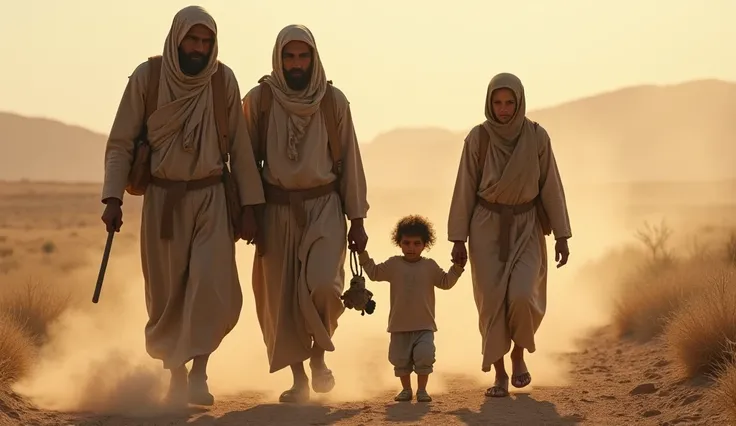
[[[291,367],[294,384],[281,402],[309,399],[304,361],[310,360],[312,389],[332,390],[325,363],[334,351],[333,334],[344,311],[346,237],[363,251],[368,236],[366,181],[350,106],[332,87],[342,172],[333,172],[328,129],[320,108],[329,84],[317,45],[304,26],[281,30],[273,48],[273,70],[265,82],[273,93],[262,170],[266,205],[262,241],[253,263],[253,294],[266,343],[270,372]],[[243,99],[251,135],[259,134],[256,86]],[[262,123],[261,123],[262,124]],[[347,231],[347,219],[350,231]]]

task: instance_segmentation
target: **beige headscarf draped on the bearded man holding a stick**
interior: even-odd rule
[[[195,76],[181,71],[179,66],[179,45],[189,30],[201,24],[214,34],[215,41],[210,51],[207,66]],[[212,88],[210,79],[217,71],[217,24],[212,16],[200,6],[181,9],[171,23],[166,37],[159,85],[159,108],[149,119],[149,139],[160,148],[173,142],[180,134],[183,148],[194,152],[209,118],[212,118]]]

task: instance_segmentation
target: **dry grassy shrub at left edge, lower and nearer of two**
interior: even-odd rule
[[[8,315],[0,314],[0,388],[23,377],[34,361],[36,348]]]

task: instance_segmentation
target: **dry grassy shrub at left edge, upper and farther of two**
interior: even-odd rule
[[[0,313],[15,321],[40,346],[47,341],[48,327],[69,307],[70,300],[65,289],[29,280],[2,290]]]

